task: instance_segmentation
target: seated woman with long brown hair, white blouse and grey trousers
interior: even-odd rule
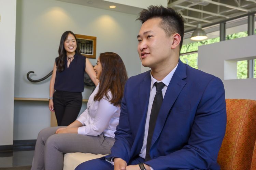
[[[94,67],[99,84],[87,109],[70,125],[39,132],[31,169],[63,169],[63,154],[110,154],[127,80],[125,65],[113,52],[101,53]]]

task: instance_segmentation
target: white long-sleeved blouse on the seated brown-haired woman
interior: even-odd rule
[[[98,136],[103,132],[104,136],[114,138],[114,132],[119,122],[120,107],[114,106],[104,97],[100,101],[94,101],[94,96],[98,90],[99,85],[90,95],[87,109],[76,119],[83,124],[78,128],[77,133]],[[108,92],[108,95],[111,99],[111,91]]]

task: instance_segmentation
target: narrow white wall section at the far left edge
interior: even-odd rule
[[[0,0],[0,15],[0,145],[12,145],[16,0]]]

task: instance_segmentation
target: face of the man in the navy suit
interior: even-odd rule
[[[161,18],[145,21],[138,35],[138,53],[144,67],[161,67],[171,57],[172,36],[167,36],[160,28]]]

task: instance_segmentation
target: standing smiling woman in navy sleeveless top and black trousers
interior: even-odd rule
[[[72,123],[82,107],[84,72],[97,86],[99,81],[88,58],[80,54],[75,34],[66,31],[60,38],[59,56],[55,58],[50,81],[49,109],[55,112],[58,126]]]

